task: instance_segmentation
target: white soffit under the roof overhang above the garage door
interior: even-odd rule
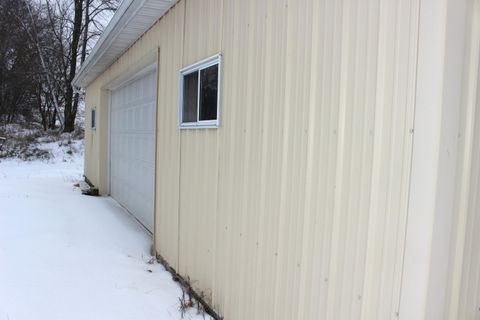
[[[73,79],[73,86],[88,86],[176,2],[177,0],[123,0]]]

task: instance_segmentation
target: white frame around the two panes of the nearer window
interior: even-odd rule
[[[218,65],[218,83],[217,83],[217,118],[214,120],[200,120],[200,89],[201,76],[200,72],[208,67]],[[197,121],[183,122],[183,83],[185,76],[198,72],[197,85]],[[218,128],[220,126],[220,94],[221,94],[221,79],[222,79],[222,55],[220,53],[211,56],[207,59],[196,62],[180,70],[179,73],[179,92],[178,92],[178,127],[180,129],[195,129],[195,128]]]

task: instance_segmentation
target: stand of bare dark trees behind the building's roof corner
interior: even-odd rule
[[[119,1],[0,0],[0,122],[46,130],[58,116],[74,130],[83,97],[72,80]]]

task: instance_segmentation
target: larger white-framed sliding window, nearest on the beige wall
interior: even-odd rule
[[[222,56],[180,70],[178,119],[181,129],[218,128]]]

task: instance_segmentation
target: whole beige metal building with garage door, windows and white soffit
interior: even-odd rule
[[[124,0],[85,176],[225,319],[480,319],[480,0]]]

